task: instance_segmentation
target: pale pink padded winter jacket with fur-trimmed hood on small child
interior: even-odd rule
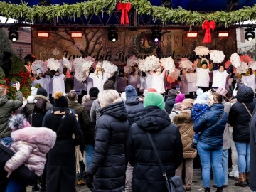
[[[6,161],[4,167],[8,176],[22,164],[41,176],[46,164],[46,154],[55,144],[56,133],[45,127],[25,127],[12,132],[11,138],[14,143],[10,148],[15,154]]]

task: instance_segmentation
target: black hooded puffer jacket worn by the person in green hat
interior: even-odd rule
[[[132,192],[165,192],[165,179],[146,132],[151,133],[167,176],[174,176],[183,160],[181,135],[169,115],[154,106],[146,107],[143,116],[129,129],[127,154],[134,166]]]

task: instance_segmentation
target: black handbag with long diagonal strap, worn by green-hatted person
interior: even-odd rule
[[[180,176],[167,177],[166,171],[164,171],[164,166],[161,163],[160,156],[156,150],[156,146],[153,142],[151,134],[149,134],[149,132],[146,132],[146,134],[149,137],[149,142],[151,143],[154,154],[156,155],[156,159],[159,163],[159,168],[161,170],[161,173],[163,174],[163,176],[165,178],[166,187],[167,187],[168,192],[184,192],[185,189],[183,187],[182,178]]]

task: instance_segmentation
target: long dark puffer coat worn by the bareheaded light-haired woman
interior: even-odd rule
[[[124,144],[129,123],[124,102],[101,110],[95,133],[95,152],[87,172],[95,175],[94,191],[122,192],[125,175]]]

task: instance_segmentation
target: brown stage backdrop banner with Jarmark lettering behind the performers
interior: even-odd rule
[[[186,31],[182,29],[164,28],[161,30],[159,43],[153,43],[151,29],[117,29],[118,40],[112,43],[108,40],[107,28],[83,28],[82,38],[71,38],[71,31],[67,28],[50,31],[49,38],[38,38],[38,30],[31,28],[33,55],[36,55],[37,60],[61,59],[63,56],[70,60],[80,56],[92,56],[95,60],[110,60],[122,66],[131,55],[142,59],[156,55],[159,58],[171,56],[174,60],[196,60],[193,52],[196,46],[223,50],[228,58],[236,52],[235,29],[229,30],[228,38],[218,38],[217,31],[213,31],[212,42],[207,45],[202,43],[203,30],[198,31],[198,38],[186,38]]]

